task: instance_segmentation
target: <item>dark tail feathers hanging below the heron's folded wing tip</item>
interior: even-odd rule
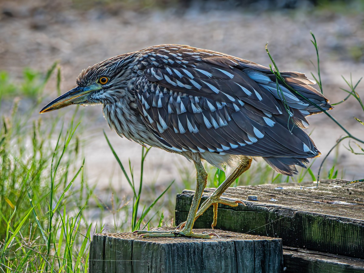
[[[298,171],[295,165],[306,167],[305,164],[309,163],[306,158],[294,157],[263,157],[273,170],[285,175],[297,174]]]

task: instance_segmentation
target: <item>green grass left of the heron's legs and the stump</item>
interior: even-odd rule
[[[105,134],[133,191],[131,213],[128,197],[118,200],[123,203],[116,210],[113,198],[110,209],[94,194],[84,174],[82,147],[75,136],[82,134],[78,107],[68,120],[60,112],[53,118],[32,118],[40,109],[39,98],[55,70],[59,90],[61,77],[56,64],[45,74],[24,70],[20,83],[0,72],[0,90],[4,91],[0,93],[0,105],[8,107],[7,99],[15,94],[20,98],[9,114],[1,111],[0,273],[87,272],[90,237],[104,229],[102,216],[107,214],[114,215],[115,231],[149,228],[154,218],[152,225],[162,225],[163,214],[153,207],[173,182],[151,203],[141,199],[143,166],[150,148],[142,148],[140,177],[134,175],[130,161],[129,176]],[[28,89],[23,88],[25,83]],[[33,106],[19,110],[21,98],[31,98]],[[111,191],[113,197],[117,195]],[[91,223],[85,213],[91,209],[100,211],[97,223]],[[116,214],[123,216],[119,226]]]

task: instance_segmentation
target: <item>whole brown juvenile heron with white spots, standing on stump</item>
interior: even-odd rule
[[[312,103],[324,110],[332,107],[304,74],[281,76],[284,82],[267,67],[214,51],[154,46],[88,67],[75,88],[40,112],[102,104],[108,125],[120,137],[193,161],[197,186],[187,221],[172,232],[138,234],[211,238],[214,233],[194,233],[194,221],[213,205],[214,227],[218,203],[242,203],[221,195],[249,169],[253,157],[262,157],[278,173],[293,175],[295,165],[304,167],[308,158],[320,154],[302,130],[308,127],[305,117],[321,112]],[[198,209],[207,180],[202,160],[235,169]]]

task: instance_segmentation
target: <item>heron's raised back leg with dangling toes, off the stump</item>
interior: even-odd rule
[[[194,221],[197,220],[199,216],[201,216],[211,205],[213,205],[214,209],[214,220],[211,225],[212,228],[216,226],[217,221],[217,204],[224,204],[230,207],[236,207],[238,204],[244,204],[244,202],[240,200],[230,201],[226,199],[222,199],[221,195],[227,190],[227,188],[237,179],[242,173],[250,168],[252,164],[252,159],[249,157],[242,157],[239,166],[225,179],[224,182],[210,195],[209,198],[205,202],[202,203],[200,209],[197,211],[196,217]],[[186,225],[186,222],[181,223],[177,229],[183,229]]]

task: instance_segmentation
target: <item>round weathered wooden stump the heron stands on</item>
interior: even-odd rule
[[[90,273],[282,272],[281,239],[222,230],[220,238],[138,238],[131,233],[94,234]]]

